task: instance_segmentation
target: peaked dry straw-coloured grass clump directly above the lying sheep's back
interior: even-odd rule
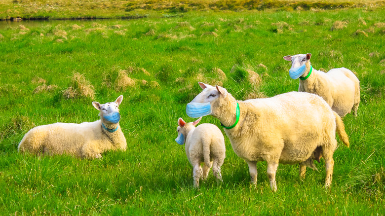
[[[71,78],[70,87],[63,91],[63,97],[66,99],[79,97],[89,97],[94,99],[94,87],[88,80],[85,79],[83,74],[76,72]]]

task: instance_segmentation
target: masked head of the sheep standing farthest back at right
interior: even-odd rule
[[[289,75],[292,79],[298,79],[300,76],[308,75],[310,71],[310,58],[311,54],[298,54],[295,56],[284,56],[283,59],[286,61],[291,61],[291,68],[289,70]]]

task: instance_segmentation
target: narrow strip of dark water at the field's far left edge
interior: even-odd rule
[[[61,25],[82,25],[86,23],[98,22],[103,25],[108,25],[109,23],[116,24],[117,22],[124,22],[127,20],[121,19],[79,19],[79,20],[21,20],[21,21],[10,21],[10,20],[0,20],[0,30],[6,28],[16,28],[20,25],[24,25],[27,28],[40,27],[45,25],[56,26]]]

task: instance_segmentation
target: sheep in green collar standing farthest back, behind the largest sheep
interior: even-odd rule
[[[290,76],[293,79],[300,77],[298,91],[321,96],[341,117],[351,110],[357,116],[360,82],[354,73],[346,68],[332,69],[327,73],[314,70],[310,65],[310,58],[310,53],[283,57],[292,62]],[[298,70],[301,66],[303,70]],[[292,72],[295,71],[298,71],[298,75],[293,77]]]

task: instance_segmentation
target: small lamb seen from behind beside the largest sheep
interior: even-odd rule
[[[225,139],[219,128],[213,124],[200,124],[201,118],[186,123],[178,119],[178,144],[185,144],[187,158],[193,167],[194,187],[199,187],[199,179],[206,179],[211,167],[217,180],[222,181],[221,166],[226,157]],[[186,138],[186,139],[185,139]],[[203,172],[201,163],[204,163]],[[202,176],[203,173],[203,176]]]

